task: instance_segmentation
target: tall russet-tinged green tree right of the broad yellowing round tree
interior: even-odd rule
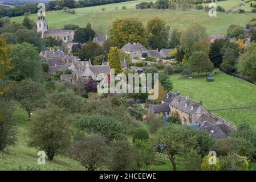
[[[153,49],[161,49],[168,44],[169,27],[159,17],[149,19],[147,22],[147,33],[149,46]],[[166,36],[167,33],[167,36]]]

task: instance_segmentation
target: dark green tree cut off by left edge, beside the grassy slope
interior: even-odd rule
[[[0,97],[0,151],[16,142],[16,129],[13,123],[14,105]]]

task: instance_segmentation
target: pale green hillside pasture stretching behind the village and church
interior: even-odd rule
[[[135,5],[145,0],[114,3],[110,5],[84,7],[76,9],[76,14],[67,14],[64,11],[51,11],[46,13],[48,27],[50,29],[63,28],[64,24],[78,24],[80,27],[91,23],[94,30],[100,35],[108,34],[112,22],[118,18],[139,18],[144,24],[147,20],[155,16],[161,17],[171,28],[186,28],[193,23],[200,23],[208,30],[208,34],[225,34],[230,24],[239,24],[245,26],[255,14],[225,14],[218,13],[217,17],[210,17],[206,11],[178,11],[178,10],[136,10]],[[228,0],[217,2],[227,8],[238,5],[238,0]],[[121,9],[126,6],[127,9]],[[118,9],[115,9],[118,7]],[[101,9],[105,10],[102,11]],[[23,16],[11,18],[12,22],[22,22]],[[30,15],[30,18],[36,20],[36,14]]]

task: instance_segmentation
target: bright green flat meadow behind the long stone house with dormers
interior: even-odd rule
[[[206,82],[205,77],[188,79],[178,74],[170,76],[173,91],[180,91],[182,96],[189,93],[190,99],[203,101],[207,109],[227,119],[234,125],[248,122],[256,129],[256,85],[240,80],[225,73],[214,75],[214,82]],[[230,107],[250,106],[243,109],[225,109]],[[221,110],[216,110],[221,109]]]

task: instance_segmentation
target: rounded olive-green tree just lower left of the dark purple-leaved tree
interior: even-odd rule
[[[77,96],[73,90],[53,93],[49,96],[49,100],[52,104],[70,113],[79,113],[83,110],[84,106],[82,97]]]

